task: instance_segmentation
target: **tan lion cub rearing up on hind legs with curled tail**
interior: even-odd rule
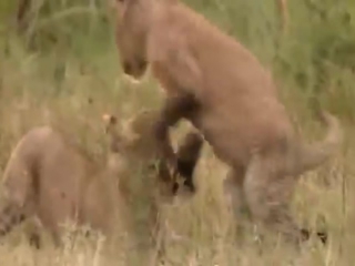
[[[339,146],[337,119],[322,112],[328,132],[305,144],[295,134],[275,83],[241,43],[178,0],[118,1],[116,43],[126,74],[148,65],[166,91],[155,125],[164,156],[175,164],[169,126],[190,120],[217,157],[240,178],[256,222],[303,237],[287,204],[297,176],[329,158]]]

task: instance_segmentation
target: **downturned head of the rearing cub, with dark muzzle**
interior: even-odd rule
[[[146,35],[154,0],[115,0],[115,40],[123,72],[136,80],[146,71]]]

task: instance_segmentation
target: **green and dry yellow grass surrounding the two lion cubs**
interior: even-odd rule
[[[140,85],[123,79],[110,3],[33,2],[30,27],[21,35],[13,28],[17,1],[0,3],[0,168],[19,137],[39,124],[67,127],[88,153],[102,160],[106,146],[101,115],[114,112],[124,121],[156,106],[162,99],[159,88],[149,75]],[[165,235],[168,265],[354,265],[354,1],[290,0],[284,35],[272,0],[187,3],[273,70],[283,101],[307,140],[324,133],[312,112],[314,100],[341,117],[345,140],[337,157],[301,178],[292,204],[301,225],[329,233],[326,247],[315,239],[297,255],[282,244],[261,247],[252,231],[240,241],[239,221],[232,218],[222,194],[225,167],[206,147],[196,172],[197,195],[164,214],[174,231]],[[120,248],[113,258],[104,259],[100,238],[67,237],[63,248],[54,250],[48,244],[38,252],[28,245],[26,229],[24,224],[2,241],[1,265],[144,264],[140,254],[122,254]]]

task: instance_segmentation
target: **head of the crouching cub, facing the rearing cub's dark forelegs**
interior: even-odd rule
[[[122,191],[130,191],[130,184],[136,183],[131,177],[138,171],[140,175],[152,177],[144,181],[144,190],[153,187],[158,191],[156,195],[170,201],[173,196],[171,174],[164,161],[156,160],[158,146],[152,127],[156,114],[154,111],[144,111],[129,121],[120,122],[114,115],[103,115],[110,143],[108,167],[119,176]]]

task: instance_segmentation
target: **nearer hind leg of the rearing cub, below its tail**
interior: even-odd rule
[[[270,160],[255,156],[244,181],[245,200],[256,224],[281,233],[287,241],[305,239],[290,213],[290,202],[296,178],[284,176]]]

